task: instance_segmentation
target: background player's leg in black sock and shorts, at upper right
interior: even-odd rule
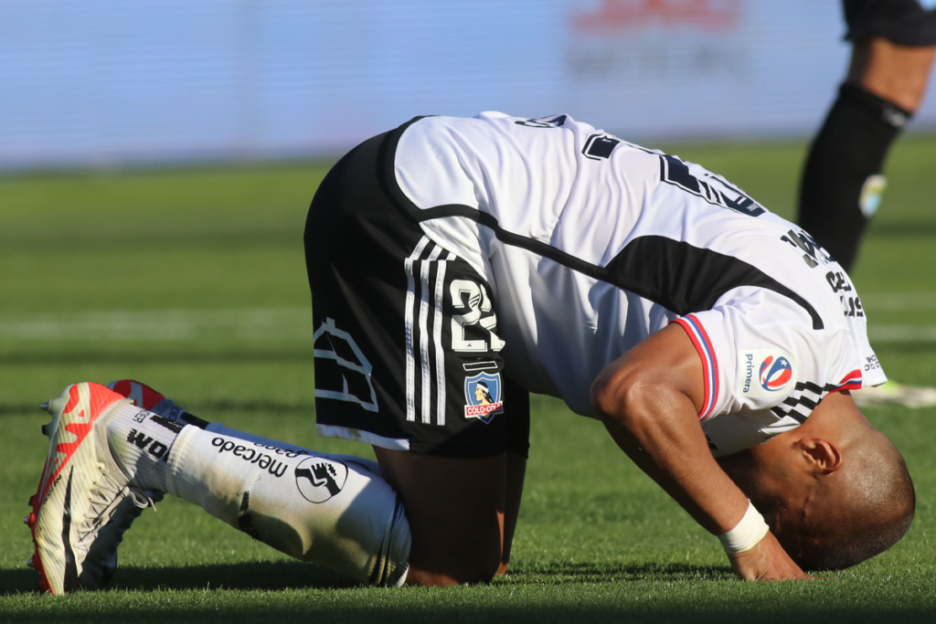
[[[878,209],[885,157],[919,108],[936,53],[936,13],[915,0],[846,0],[852,61],[812,142],[799,225],[850,271]]]

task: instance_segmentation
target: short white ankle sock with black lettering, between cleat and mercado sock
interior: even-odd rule
[[[110,452],[130,482],[144,489],[166,489],[169,450],[183,426],[132,404],[108,421]]]

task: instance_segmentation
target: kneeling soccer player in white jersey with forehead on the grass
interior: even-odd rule
[[[44,573],[53,591],[83,570],[68,567],[82,554],[60,544],[62,518],[89,527],[80,544],[95,554],[101,504],[130,504],[102,487],[168,490],[361,580],[489,580],[509,556],[529,392],[603,419],[741,578],[852,565],[910,525],[906,467],[848,395],[885,381],[854,286],[808,234],[703,167],[567,115],[418,118],[332,168],[305,244],[318,432],[373,444],[380,478],[343,460],[346,483],[369,480],[345,495],[328,457],[318,472],[300,455],[268,463],[117,397],[92,411],[115,485],[98,485],[113,467],[89,477],[90,511],[66,513],[79,490],[53,452],[34,500],[39,559],[65,561]],[[68,427],[52,435],[77,457],[80,421]],[[336,492],[331,511],[312,487]]]

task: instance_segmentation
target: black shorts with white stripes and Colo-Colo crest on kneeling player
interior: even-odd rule
[[[490,284],[395,199],[404,127],[345,155],[309,209],[318,433],[443,457],[526,457],[530,397],[504,374]]]

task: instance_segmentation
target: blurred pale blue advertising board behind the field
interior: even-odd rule
[[[327,156],[481,110],[806,138],[843,33],[838,0],[3,0],[0,169]]]

